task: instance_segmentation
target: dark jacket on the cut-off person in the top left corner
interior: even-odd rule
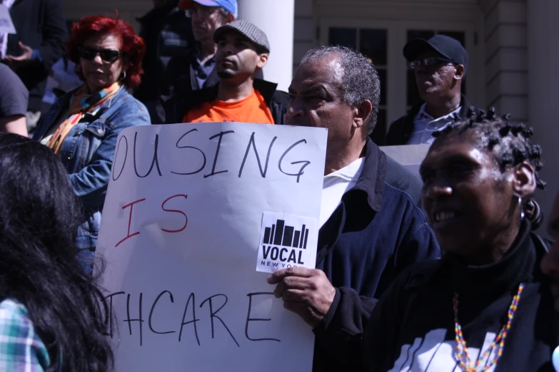
[[[40,59],[29,61],[15,72],[29,90],[28,110],[39,111],[49,70],[64,53],[66,19],[60,0],[16,0],[10,8],[16,34],[8,35],[6,54],[20,56],[18,41],[39,51]]]

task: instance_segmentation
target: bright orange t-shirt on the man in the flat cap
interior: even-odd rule
[[[256,89],[247,98],[236,102],[211,100],[191,108],[183,117],[183,123],[208,123],[236,121],[238,123],[273,124],[272,113],[266,100]]]

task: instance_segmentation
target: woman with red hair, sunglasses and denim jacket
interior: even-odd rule
[[[126,21],[88,16],[74,23],[66,43],[83,86],[59,98],[36,128],[33,139],[59,155],[74,192],[84,205],[76,247],[91,271],[101,210],[121,130],[149,125],[146,107],[126,90],[138,86],[143,39]]]

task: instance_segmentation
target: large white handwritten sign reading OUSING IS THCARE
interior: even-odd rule
[[[307,222],[296,259],[314,267],[326,135],[245,123],[119,135],[96,250],[116,371],[311,371],[311,327],[254,263],[279,215],[281,243],[293,227],[301,244]]]

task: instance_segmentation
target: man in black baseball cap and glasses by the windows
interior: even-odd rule
[[[422,103],[391,124],[387,145],[432,143],[433,132],[455,118],[466,118],[478,108],[468,102],[460,88],[468,69],[468,52],[460,41],[445,35],[429,40],[416,38],[403,48],[408,70],[415,71]]]

